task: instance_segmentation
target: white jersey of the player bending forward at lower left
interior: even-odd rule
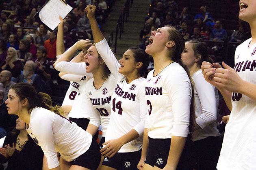
[[[45,108],[33,108],[28,134],[42,148],[48,168],[59,166],[57,152],[73,161],[91,146],[92,136],[76,123]]]

